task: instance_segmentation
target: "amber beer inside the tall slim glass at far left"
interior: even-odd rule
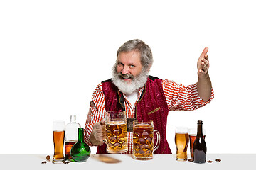
[[[64,159],[63,145],[64,145],[65,131],[53,131],[54,155],[53,159]]]

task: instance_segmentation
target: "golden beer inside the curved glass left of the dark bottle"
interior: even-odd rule
[[[175,145],[176,145],[176,159],[186,161],[188,159],[187,148],[188,148],[188,133],[176,133],[175,134]]]

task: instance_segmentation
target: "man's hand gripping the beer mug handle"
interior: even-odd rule
[[[103,140],[106,137],[105,127],[105,122],[103,120],[93,125],[93,130],[90,137],[92,145],[102,145],[104,143]]]

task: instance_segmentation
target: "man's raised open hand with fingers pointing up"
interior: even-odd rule
[[[197,68],[198,68],[198,77],[204,77],[208,75],[208,69],[210,67],[209,57],[207,55],[208,47],[203,49],[201,56],[198,59]]]

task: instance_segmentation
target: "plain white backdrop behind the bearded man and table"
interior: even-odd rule
[[[53,120],[85,125],[92,92],[134,38],[151,47],[151,75],[186,85],[209,47],[215,98],[169,112],[172,152],[175,127],[203,120],[208,153],[256,153],[252,2],[0,1],[0,153],[53,153]]]

